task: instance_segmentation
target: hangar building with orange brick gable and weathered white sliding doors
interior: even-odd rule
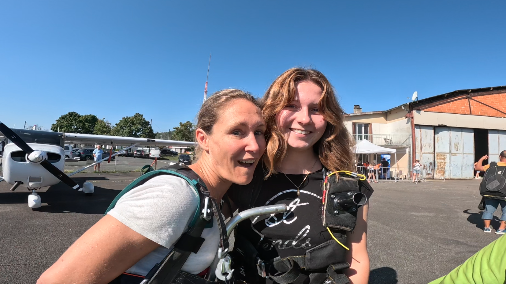
[[[396,148],[400,159],[391,167],[419,159],[428,176],[471,179],[480,157],[498,161],[506,150],[506,86],[457,90],[387,111],[354,111],[345,118],[348,130],[357,141]]]

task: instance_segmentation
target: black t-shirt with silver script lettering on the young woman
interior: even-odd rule
[[[251,222],[239,224],[236,233],[246,237],[257,248],[261,259],[269,261],[278,256],[304,255],[310,248],[331,238],[321,219],[323,172],[319,170],[310,173],[299,187],[301,194],[297,196],[297,187],[293,184],[300,185],[305,176],[306,174],[272,174],[262,182],[259,196],[251,205],[258,207],[285,203],[289,210],[284,214],[260,216],[252,218]],[[235,204],[240,203],[237,200],[241,196],[238,194],[239,188],[233,186],[227,193]],[[367,198],[372,194],[370,187],[361,186],[360,191]],[[250,195],[243,198],[250,198]],[[305,271],[302,273],[309,274]],[[309,278],[300,277],[296,282],[308,281]],[[272,280],[266,282],[271,283]]]

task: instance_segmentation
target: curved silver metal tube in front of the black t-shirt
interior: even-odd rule
[[[256,217],[260,215],[271,215],[271,214],[278,214],[278,213],[284,213],[288,211],[288,206],[286,204],[275,204],[275,205],[267,205],[267,206],[261,206],[261,207],[254,207],[250,209],[246,209],[244,211],[239,212],[236,216],[232,217],[227,224],[225,224],[225,228],[227,229],[227,235],[230,237],[230,234],[232,234],[232,231],[234,231],[235,226],[239,224],[240,222],[249,219],[251,217]],[[228,250],[227,252],[228,253]],[[226,254],[225,253],[225,254]],[[218,266],[218,253],[215,256],[215,259],[213,260],[213,263],[209,266],[209,273],[206,275],[206,279],[210,281],[215,281],[216,279],[216,267]]]

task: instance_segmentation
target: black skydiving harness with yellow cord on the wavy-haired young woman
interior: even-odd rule
[[[260,194],[265,175],[262,166],[257,167],[256,171],[258,178],[239,189],[239,212],[254,207]],[[326,168],[323,168],[322,174],[322,225],[332,238],[310,248],[304,255],[264,260],[257,250],[261,241],[253,244],[236,229],[233,254],[237,283],[256,284],[262,277],[288,284],[297,280],[301,271],[311,273],[310,284],[349,283],[343,273],[344,269],[350,267],[345,258],[349,248],[344,243],[346,232],[355,228],[358,208],[367,201],[366,195],[359,189],[359,183],[366,178],[350,171],[329,172]],[[369,187],[367,182],[363,185]]]

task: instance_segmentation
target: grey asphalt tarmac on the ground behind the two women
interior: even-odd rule
[[[28,208],[26,188],[11,192],[0,183],[0,283],[34,283],[137,176],[78,173],[72,176],[77,183],[95,184],[93,196],[59,184],[39,191],[40,211]],[[428,283],[498,238],[481,230],[478,185],[473,180],[374,184],[369,283]],[[492,226],[498,227],[498,218]]]

